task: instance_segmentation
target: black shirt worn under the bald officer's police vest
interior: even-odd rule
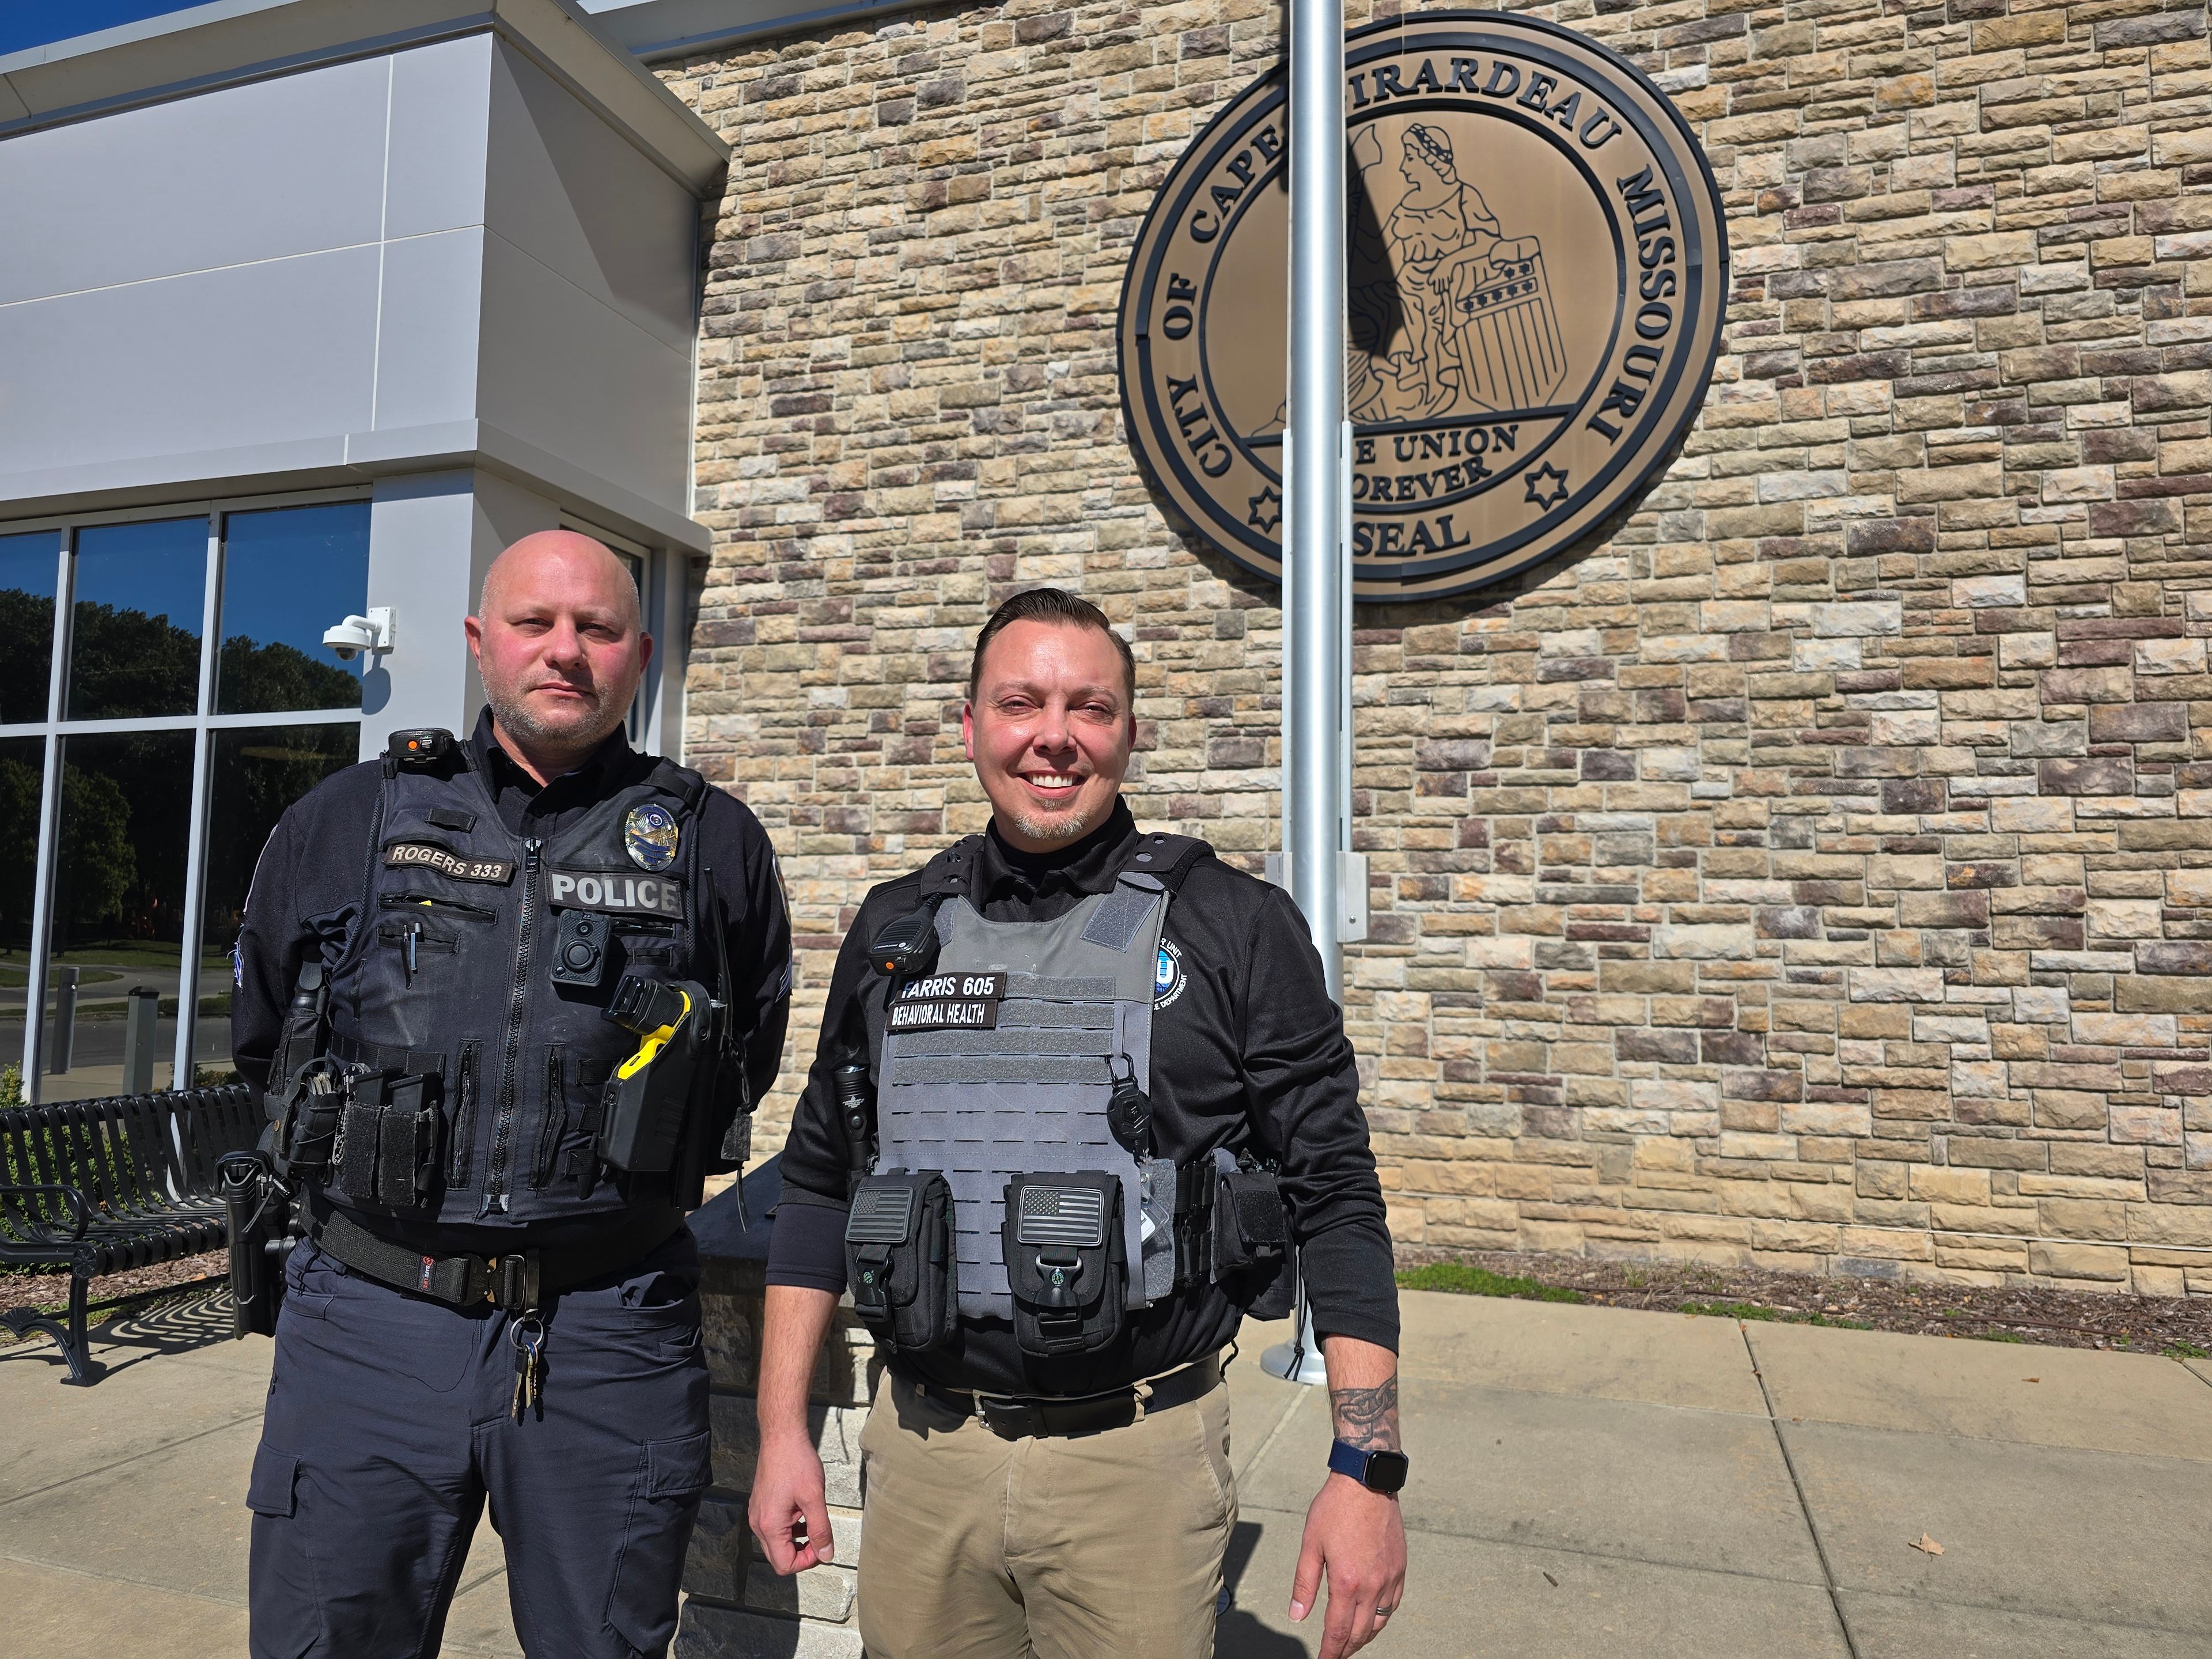
[[[498,803],[500,818],[518,836],[551,836],[591,807],[613,799],[653,772],[653,759],[630,748],[617,728],[584,765],[544,787],[531,779],[491,734],[484,710],[469,739],[469,754]],[[292,987],[307,951],[327,947],[334,960],[349,929],[361,920],[361,872],[369,860],[369,825],[383,763],[365,761],[323,779],[294,801],[270,832],[254,885],[246,898],[234,958],[230,1044],[239,1075],[257,1091],[268,1088],[270,1057]],[[783,1066],[783,1033],[790,1022],[792,927],[783,909],[776,854],[761,821],[721,790],[708,790],[697,823],[684,827],[701,836],[699,863],[714,872],[728,916],[730,1006],[745,1033],[745,1075],[761,1099]],[[484,1239],[462,1234],[484,1232]],[[515,1230],[447,1228],[451,1248],[513,1248]]]

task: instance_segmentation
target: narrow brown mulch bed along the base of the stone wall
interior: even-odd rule
[[[1431,1267],[1420,1274],[1420,1267]],[[2033,1285],[1978,1290],[1880,1279],[1823,1279],[1759,1267],[1588,1261],[1524,1250],[1400,1245],[1400,1281],[1484,1296],[1847,1325],[1913,1336],[2212,1356],[2212,1296],[2099,1296]],[[1416,1270],[1416,1272],[1405,1272]],[[1429,1283],[1425,1283],[1429,1281]]]

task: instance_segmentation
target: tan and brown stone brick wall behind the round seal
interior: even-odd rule
[[[1358,615],[1398,1237],[2212,1292],[2203,7],[1533,11],[1677,97],[1736,290],[1610,544]],[[1139,816],[1274,845],[1276,593],[1157,507],[1113,319],[1279,51],[1261,0],[1015,0],[664,66],[737,146],[688,743],[783,849],[787,1084],[860,894],[984,821],[1020,584],[1130,628]]]

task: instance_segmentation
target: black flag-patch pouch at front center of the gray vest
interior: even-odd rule
[[[1013,1340],[1024,1354],[1091,1354],[1121,1334],[1121,1177],[1015,1175],[1006,1181],[1000,1245],[1013,1290]]]

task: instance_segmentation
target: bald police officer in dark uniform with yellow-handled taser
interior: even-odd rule
[[[768,836],[622,721],[653,639],[599,542],[493,562],[467,743],[400,732],[276,825],[234,1051],[305,1239],[254,1453],[252,1652],[436,1652],[484,1502],[533,1659],[668,1648],[708,1484],[684,1225],[774,1079]]]

